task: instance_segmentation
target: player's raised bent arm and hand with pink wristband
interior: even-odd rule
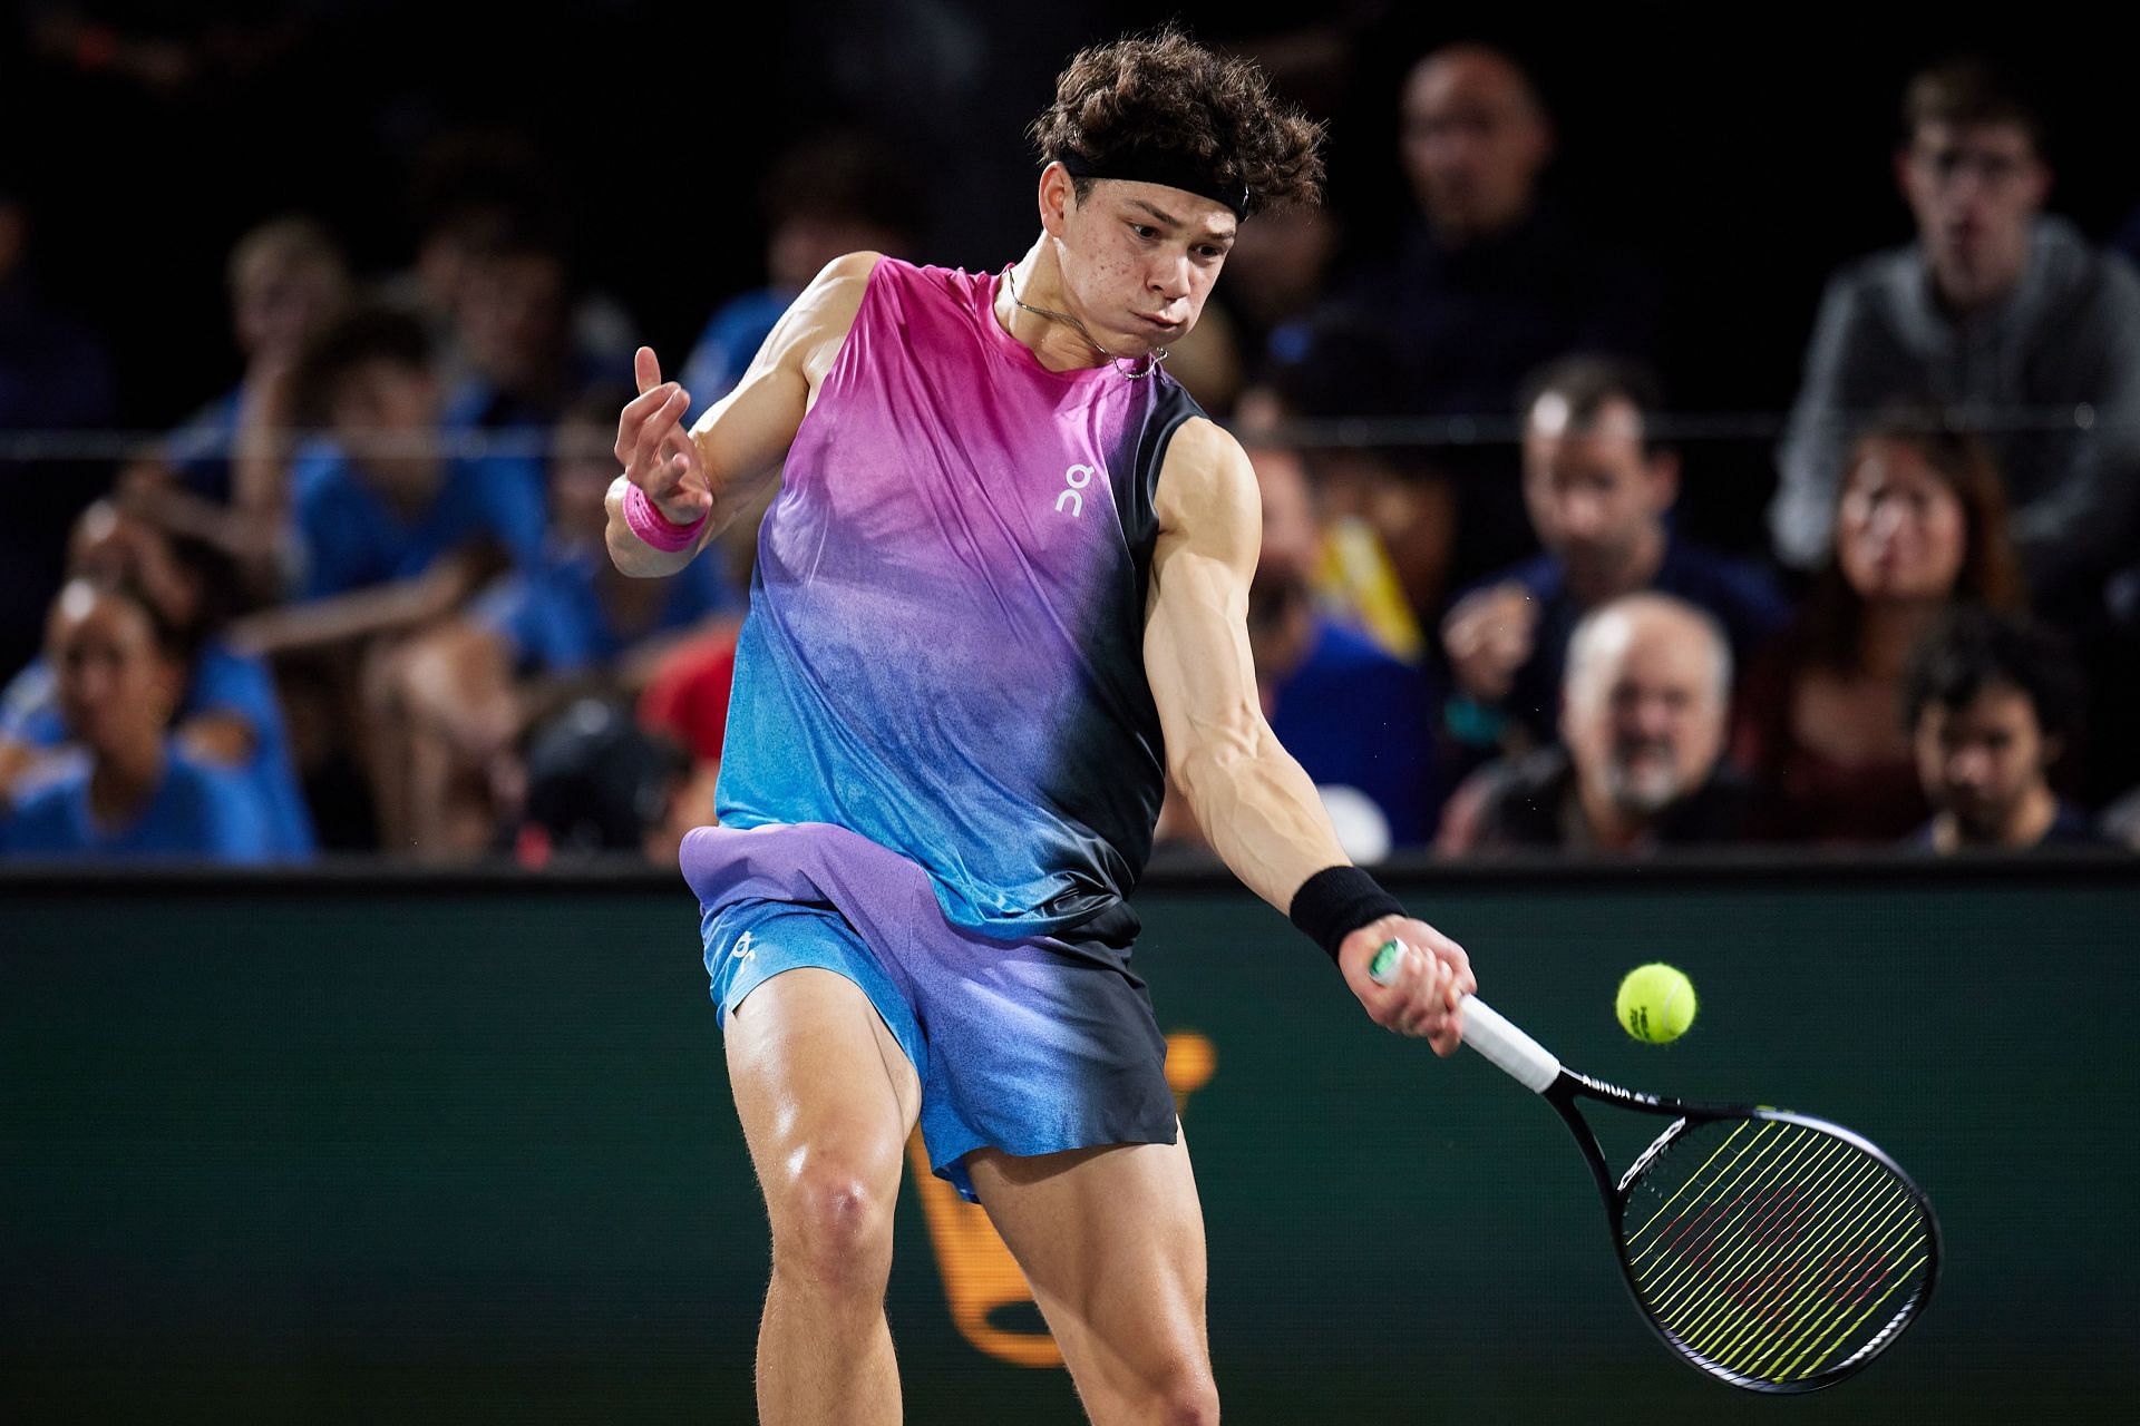
[[[832,370],[854,327],[875,252],[835,259],[796,297],[766,336],[736,389],[715,402],[689,432],[681,430],[689,396],[663,383],[653,353],[640,351],[640,396],[616,425],[616,460],[625,472],[610,485],[610,558],[627,575],[672,575],[745,509],[779,470],[796,430]],[[625,492],[640,485],[666,517],[706,517],[685,549],[655,549],[625,524]]]

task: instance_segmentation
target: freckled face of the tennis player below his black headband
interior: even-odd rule
[[[1061,216],[1059,257],[1072,314],[1094,340],[1141,357],[1188,336],[1218,282],[1237,222],[1224,203],[1102,177]]]

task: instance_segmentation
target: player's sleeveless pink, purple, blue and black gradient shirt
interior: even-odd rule
[[[869,278],[758,534],[717,804],[847,827],[1019,939],[1121,906],[1151,853],[1153,492],[1203,413],[1164,372],[1046,370],[997,282]]]

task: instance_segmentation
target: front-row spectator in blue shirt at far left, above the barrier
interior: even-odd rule
[[[45,637],[66,733],[83,757],[24,791],[0,821],[11,857],[263,862],[268,819],[235,774],[171,738],[180,667],[152,601],[77,579]]]

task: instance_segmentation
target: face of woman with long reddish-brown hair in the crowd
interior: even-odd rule
[[[1864,599],[1945,599],[1962,573],[1967,524],[1922,451],[1868,440],[1836,511],[1836,562]]]

